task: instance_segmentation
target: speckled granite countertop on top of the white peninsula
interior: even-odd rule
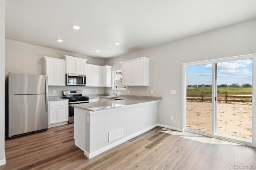
[[[115,109],[120,107],[128,107],[132,105],[140,105],[146,103],[155,103],[162,101],[162,97],[141,97],[141,96],[132,96],[132,97],[118,97],[122,100],[116,101],[102,101],[102,102],[92,102],[92,103],[81,103],[70,105],[72,107],[77,107],[79,109],[84,109],[87,111],[103,111],[108,109]]]

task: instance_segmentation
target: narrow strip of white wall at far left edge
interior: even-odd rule
[[[0,166],[6,163],[4,152],[4,41],[5,41],[5,1],[0,0]]]

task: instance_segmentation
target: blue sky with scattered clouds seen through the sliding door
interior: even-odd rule
[[[252,59],[217,63],[217,84],[252,85]],[[186,67],[186,85],[212,85],[212,65]]]

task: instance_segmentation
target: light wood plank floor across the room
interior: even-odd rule
[[[234,169],[231,166],[256,169],[255,148],[188,132],[166,132],[161,127],[89,160],[74,145],[73,129],[74,124],[63,125],[6,140],[6,165],[0,169]]]

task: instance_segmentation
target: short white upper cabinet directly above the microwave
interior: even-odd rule
[[[72,57],[69,55],[64,55],[62,58],[66,59],[67,73],[86,75],[85,65],[88,59]]]

